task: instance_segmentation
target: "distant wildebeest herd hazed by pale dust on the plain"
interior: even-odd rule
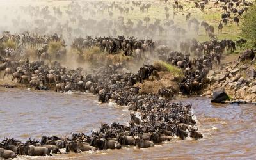
[[[227,24],[230,20],[232,14],[234,15],[234,22],[239,22],[239,17],[243,14],[243,10],[246,12],[248,6],[252,5],[250,2],[243,1],[239,2],[229,2],[223,1],[220,6],[223,8],[224,13],[222,13],[221,18],[223,23]],[[219,1],[217,1],[219,2]],[[225,2],[225,5],[223,4]],[[24,43],[33,41],[33,45],[45,42],[48,35],[53,35],[58,33],[58,35],[63,35],[63,38],[67,40],[67,44],[71,44],[72,40],[77,37],[86,37],[92,35],[98,36],[112,36],[116,37],[118,35],[134,36],[140,39],[145,37],[158,40],[166,39],[179,42],[184,40],[186,37],[195,36],[200,28],[200,20],[193,17],[193,13],[186,13],[185,18],[188,24],[188,28],[180,26],[175,22],[175,19],[171,20],[170,10],[172,8],[165,6],[164,15],[166,19],[150,19],[149,16],[142,17],[141,19],[130,19],[127,14],[134,14],[133,12],[125,12],[125,10],[133,10],[134,12],[150,12],[152,4],[157,2],[145,3],[145,1],[133,1],[133,3],[123,3],[120,1],[106,2],[106,1],[72,1],[71,3],[65,4],[64,6],[54,6],[49,7],[42,4],[41,6],[13,6],[12,10],[8,10],[9,7],[2,6],[6,13],[11,15],[17,15],[13,19],[4,19],[5,24],[13,24],[13,26],[19,26],[18,28],[12,28],[12,26],[1,26],[1,31],[12,31],[13,33],[24,33],[22,35],[16,35],[13,37],[16,40],[21,38]],[[239,5],[234,5],[234,3],[239,3]],[[219,4],[219,3],[217,3]],[[223,4],[223,5],[222,5]],[[202,1],[199,6],[209,5],[207,0]],[[184,5],[180,1],[175,1],[173,6],[176,8],[184,8]],[[217,7],[218,5],[216,5]],[[243,8],[242,8],[243,7]],[[133,8],[133,9],[131,9]],[[241,9],[240,9],[241,8]],[[117,12],[120,11],[120,13]],[[149,11],[148,11],[149,10]],[[117,13],[116,13],[117,12]],[[173,16],[175,16],[178,11],[173,10]],[[183,10],[179,11],[184,14]],[[117,15],[115,15],[115,14]],[[114,15],[113,15],[114,14]],[[20,16],[24,15],[24,16]],[[26,15],[26,16],[25,16]],[[193,17],[193,18],[192,18]],[[6,21],[7,20],[7,21]],[[208,22],[203,22],[207,33],[214,36],[214,29],[212,25]],[[186,26],[186,25],[185,25]],[[26,34],[28,31],[33,33],[33,38]],[[221,31],[223,28],[222,23],[219,25],[218,30]],[[47,35],[47,36],[36,36],[36,35]],[[172,38],[170,38],[172,37]],[[22,40],[22,41],[23,41]]]

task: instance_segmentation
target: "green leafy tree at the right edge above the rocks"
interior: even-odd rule
[[[256,47],[256,5],[250,6],[244,15],[241,37],[247,40],[249,47]]]

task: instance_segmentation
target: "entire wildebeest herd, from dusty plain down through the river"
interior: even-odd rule
[[[208,4],[207,0],[199,4],[195,2],[195,7],[204,11]],[[219,4],[225,12],[221,14],[225,26],[231,14],[234,15],[233,21],[238,25],[243,12],[252,5],[246,1],[220,0],[214,3],[214,7]],[[241,8],[242,5],[244,8]],[[4,138],[0,143],[0,157],[14,158],[17,154],[50,156],[63,153],[63,148],[64,152],[120,149],[125,145],[147,148],[173,140],[176,136],[182,140],[188,136],[194,139],[202,138],[202,134],[197,132],[195,127],[191,105],[170,102],[173,97],[170,88],[161,88],[158,94],[141,95],[140,88],[134,86],[149,80],[150,76],[157,76],[157,72],[161,70],[157,70],[154,65],[143,65],[138,72],[131,73],[125,69],[129,68],[129,63],[108,64],[100,66],[90,74],[86,74],[81,67],[72,69],[61,66],[60,61],[65,60],[67,56],[67,46],[85,52],[86,49],[99,47],[100,51],[106,54],[132,56],[134,63],[142,59],[145,61],[157,58],[182,68],[184,77],[179,81],[179,89],[181,93],[191,95],[200,93],[200,90],[209,84],[207,74],[214,67],[221,68],[220,60],[225,51],[234,52],[237,46],[246,42],[243,39],[236,42],[228,39],[216,40],[214,26],[206,21],[199,22],[196,18],[191,18],[191,13],[185,16],[188,24],[186,30],[170,20],[168,7],[164,8],[164,21],[155,19],[152,22],[150,17],[144,17],[134,25],[134,20],[124,18],[136,10],[141,13],[148,12],[152,7],[152,4],[145,1],[126,1],[125,6],[120,2],[72,1],[64,10],[59,6],[17,8],[15,14],[23,13],[28,16],[26,19],[19,16],[12,19],[12,23],[19,26],[18,31],[15,30],[12,35],[10,31],[6,31],[9,28],[0,28],[4,31],[0,45],[8,42],[15,44],[14,47],[0,48],[0,71],[3,71],[3,78],[10,77],[14,83],[17,81],[38,90],[54,88],[56,92],[90,92],[97,95],[100,102],[113,100],[118,105],[128,106],[134,113],[131,113],[129,126],[116,122],[111,125],[102,124],[99,131],[90,135],[73,133],[70,138],[42,135],[40,141],[29,139],[25,143],[14,138]],[[173,19],[177,13],[183,12],[185,7],[175,0]],[[115,17],[115,11],[119,11],[120,16]],[[99,19],[99,16],[104,18]],[[222,22],[218,25],[219,33],[222,32]],[[198,34],[200,26],[205,29],[211,40],[198,42],[194,38],[186,38],[191,33]],[[31,28],[30,31],[27,31],[28,27]],[[51,42],[60,42],[54,57],[49,54]],[[33,50],[35,61],[27,54],[28,49]]]

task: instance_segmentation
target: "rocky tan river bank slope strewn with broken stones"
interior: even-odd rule
[[[203,95],[209,96],[214,88],[225,88],[231,97],[230,102],[237,103],[256,103],[256,71],[254,53],[251,58],[246,58],[248,51],[244,51],[236,61],[228,62],[221,70],[211,71],[208,74],[211,86]],[[243,59],[243,57],[245,57]],[[242,60],[241,60],[242,59]]]

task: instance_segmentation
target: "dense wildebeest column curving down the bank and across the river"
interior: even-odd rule
[[[72,134],[71,138],[42,136],[41,141],[28,140],[26,143],[6,138],[0,143],[0,147],[3,148],[3,154],[0,155],[4,158],[15,157],[16,154],[51,155],[58,153],[61,148],[65,148],[65,152],[120,149],[123,145],[147,148],[154,146],[155,143],[172,140],[173,136],[179,136],[182,140],[188,136],[195,139],[202,138],[202,134],[195,128],[196,122],[191,113],[191,105],[159,99],[158,95],[139,95],[139,88],[133,85],[137,81],[148,79],[153,72],[156,72],[156,68],[152,65],[141,67],[138,74],[124,74],[118,71],[120,66],[110,65],[84,76],[81,74],[81,68],[66,70],[63,67],[54,66],[55,70],[49,70],[45,68],[42,61],[32,63],[27,61],[24,63],[24,67],[26,66],[34,70],[30,81],[31,87],[40,87],[40,78],[44,77],[42,75],[45,73],[47,75],[45,83],[61,82],[56,84],[57,91],[75,88],[88,90],[97,94],[100,102],[108,102],[112,99],[119,105],[129,106],[131,111],[140,115],[131,114],[129,126],[118,123],[113,123],[111,126],[102,124],[100,130],[92,132],[90,136],[83,133]],[[61,73],[63,75],[58,76]],[[20,76],[22,82],[28,80],[25,78],[28,77],[28,73],[23,70],[15,72],[13,78],[18,75],[22,75]],[[168,95],[168,92],[163,93]]]

